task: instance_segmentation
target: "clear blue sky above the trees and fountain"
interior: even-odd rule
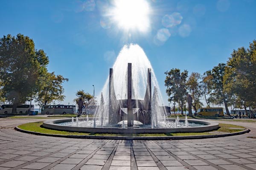
[[[134,2],[142,5],[130,9],[125,4],[121,11],[133,15],[137,8],[145,9],[145,2]],[[256,39],[256,0],[146,3],[148,17],[135,16],[140,26],[129,29],[123,23],[127,18],[116,18],[116,3],[108,0],[1,0],[0,37],[21,33],[44,49],[48,70],[69,78],[62,104],[72,104],[77,90],[93,94],[93,85],[95,96],[100,94],[123,45],[137,43],[154,68],[165,105],[165,71],[203,74],[226,62],[233,49],[248,47]]]

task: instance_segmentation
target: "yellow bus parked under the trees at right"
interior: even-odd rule
[[[223,108],[200,108],[197,116],[224,116]]]

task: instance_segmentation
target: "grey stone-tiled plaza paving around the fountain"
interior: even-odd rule
[[[256,137],[256,122],[232,122],[250,128],[239,136],[167,141],[69,139],[14,130],[33,121],[38,120],[0,119],[0,170],[256,170],[256,139],[247,138]]]

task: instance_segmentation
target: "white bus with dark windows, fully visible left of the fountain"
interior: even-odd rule
[[[66,114],[76,113],[75,105],[44,105],[41,114]]]

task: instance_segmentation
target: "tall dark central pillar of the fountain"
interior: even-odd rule
[[[127,76],[127,126],[131,127],[133,124],[132,120],[132,105],[131,105],[131,63],[128,63],[128,76]]]

